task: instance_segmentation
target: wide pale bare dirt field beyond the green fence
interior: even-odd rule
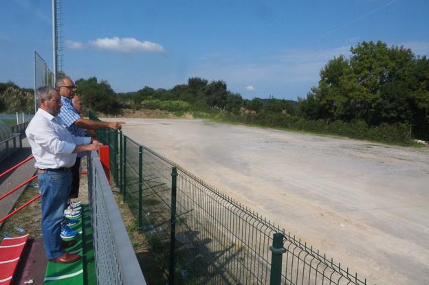
[[[274,220],[369,284],[429,284],[427,147],[199,119],[124,120],[126,135]]]

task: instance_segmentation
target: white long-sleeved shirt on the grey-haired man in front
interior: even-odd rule
[[[63,126],[61,118],[39,108],[25,130],[36,168],[69,168],[74,166],[76,145],[90,144],[91,137],[74,137]]]

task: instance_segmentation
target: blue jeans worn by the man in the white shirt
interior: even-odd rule
[[[61,221],[67,207],[72,173],[67,170],[45,170],[38,174],[42,194],[42,234],[47,260],[54,260],[65,253],[61,247]]]

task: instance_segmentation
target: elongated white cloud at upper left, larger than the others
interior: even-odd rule
[[[149,41],[137,41],[135,38],[97,38],[90,41],[90,44],[97,49],[107,49],[113,52],[165,52],[164,47]]]

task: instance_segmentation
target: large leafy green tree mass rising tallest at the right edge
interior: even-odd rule
[[[429,62],[410,49],[387,47],[378,41],[351,47],[349,59],[338,56],[320,71],[317,87],[298,100],[300,112],[311,119],[370,126],[406,123],[428,131]]]

